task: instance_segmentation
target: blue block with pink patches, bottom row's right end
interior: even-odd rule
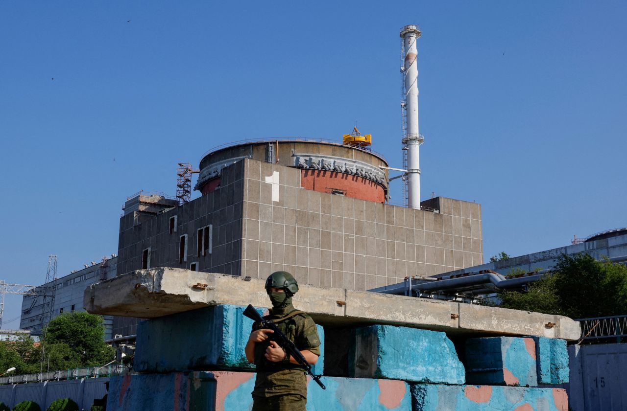
[[[568,411],[562,388],[416,384],[411,395],[413,411]]]

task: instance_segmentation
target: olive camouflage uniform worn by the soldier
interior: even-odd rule
[[[281,310],[282,313],[265,316],[266,320],[275,320],[277,328],[296,345],[298,350],[309,350],[320,355],[320,337],[314,320],[306,313],[280,321],[294,308],[292,304]],[[261,328],[260,323],[253,324],[253,331]],[[269,341],[255,344],[255,365],[257,378],[253,398],[253,411],[305,411],[307,403],[307,377],[305,368],[290,362],[271,362],[265,358]]]

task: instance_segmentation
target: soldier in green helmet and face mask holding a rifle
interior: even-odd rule
[[[320,355],[320,337],[314,320],[307,313],[295,310],[292,296],[298,283],[286,271],[272,273],[266,279],[266,293],[272,309],[270,320],[300,350],[308,363],[314,365]],[[268,341],[272,330],[253,324],[246,343],[246,358],[255,363],[257,378],[253,390],[253,411],[305,411],[307,377],[305,368],[288,355],[275,341]]]

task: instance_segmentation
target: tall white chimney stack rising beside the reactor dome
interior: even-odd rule
[[[416,40],[421,31],[410,24],[401,29],[403,49],[405,50],[403,73],[405,77],[405,110],[407,113],[407,135],[403,143],[407,147],[407,188],[408,207],[420,209],[420,155],[419,145],[424,141],[418,133],[418,49]]]

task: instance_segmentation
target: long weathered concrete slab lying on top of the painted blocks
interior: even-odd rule
[[[199,287],[198,284],[203,284]],[[179,268],[132,271],[85,289],[92,314],[155,318],[217,304],[267,306],[264,281]],[[436,331],[578,340],[579,323],[557,315],[302,285],[294,306],[323,326],[387,324]],[[551,326],[549,326],[551,325]]]

